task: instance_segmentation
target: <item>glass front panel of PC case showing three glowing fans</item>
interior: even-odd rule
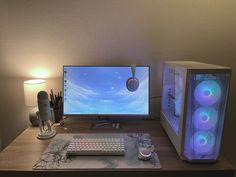
[[[215,73],[214,73],[215,72]],[[184,156],[189,161],[215,161],[225,118],[230,73],[213,70],[189,74]]]

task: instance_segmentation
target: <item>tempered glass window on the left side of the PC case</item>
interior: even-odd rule
[[[183,104],[183,73],[169,65],[164,65],[162,89],[162,113],[168,120],[176,135],[179,131],[179,121]]]

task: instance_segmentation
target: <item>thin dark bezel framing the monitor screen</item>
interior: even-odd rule
[[[63,103],[64,103],[64,71],[65,67],[132,67],[131,65],[63,65]],[[105,119],[116,119],[116,118],[149,118],[150,117],[150,66],[149,65],[136,65],[136,67],[147,67],[148,68],[148,114],[65,114],[63,104],[63,116],[70,118],[105,118]],[[90,116],[90,117],[89,117]]]

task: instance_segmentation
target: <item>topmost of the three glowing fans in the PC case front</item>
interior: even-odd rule
[[[221,97],[220,85],[214,80],[200,82],[195,91],[195,99],[203,106],[215,104]]]

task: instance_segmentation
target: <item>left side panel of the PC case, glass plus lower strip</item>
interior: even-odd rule
[[[161,124],[181,154],[186,72],[183,67],[164,64]]]

